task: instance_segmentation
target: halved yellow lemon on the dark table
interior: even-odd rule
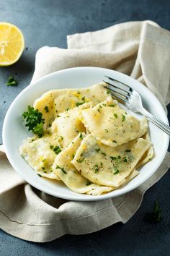
[[[0,22],[0,66],[14,64],[24,50],[24,36],[15,25]]]

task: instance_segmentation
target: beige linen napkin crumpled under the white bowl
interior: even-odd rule
[[[32,82],[59,69],[81,66],[124,72],[143,82],[164,107],[170,101],[170,33],[154,22],[127,22],[68,35],[68,49],[42,47],[36,54]],[[99,202],[71,202],[24,182],[7,160],[3,146],[0,151],[0,228],[34,242],[48,242],[63,234],[91,233],[119,221],[126,223],[138,210],[146,190],[170,166],[167,153],[156,173],[132,192]]]

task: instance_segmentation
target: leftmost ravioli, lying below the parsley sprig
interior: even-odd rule
[[[24,160],[29,163],[37,174],[49,179],[58,179],[58,176],[53,173],[51,168],[57,150],[60,152],[60,147],[53,135],[45,135],[39,139],[35,136],[28,138],[19,147],[20,155],[22,155]]]

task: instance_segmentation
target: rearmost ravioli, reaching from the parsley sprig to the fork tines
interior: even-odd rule
[[[104,82],[100,82],[89,88],[50,90],[40,98],[37,98],[34,108],[42,113],[45,119],[44,128],[47,129],[55,119],[55,116],[58,116],[58,114],[66,111],[68,108],[72,109],[89,101],[95,106],[97,103],[104,101],[108,96],[112,98],[109,91],[103,85],[106,86]]]

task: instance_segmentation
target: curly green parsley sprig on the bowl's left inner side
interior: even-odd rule
[[[32,131],[38,137],[42,137],[44,120],[42,113],[32,106],[27,107],[28,111],[25,111],[22,116],[26,121],[25,126],[28,127],[29,131]]]

